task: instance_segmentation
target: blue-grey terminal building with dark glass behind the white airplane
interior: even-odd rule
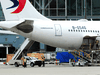
[[[100,0],[30,0],[30,2],[42,15],[52,20],[100,20]],[[0,21],[5,21],[1,5]],[[14,53],[24,40],[25,37],[20,35],[0,33],[0,60],[4,60],[6,54]],[[30,49],[33,52],[57,50],[39,42],[35,42]]]

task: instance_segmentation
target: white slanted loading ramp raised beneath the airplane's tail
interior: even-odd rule
[[[17,52],[14,54],[12,59],[8,62],[8,64],[15,64],[15,63],[21,64],[22,55],[25,55],[25,53],[29,50],[29,48],[32,46],[33,43],[34,43],[33,40],[27,38],[20,46],[20,48],[17,50]]]

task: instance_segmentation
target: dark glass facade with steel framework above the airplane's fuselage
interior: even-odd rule
[[[100,17],[100,0],[30,0],[43,15],[54,20],[96,19]]]

